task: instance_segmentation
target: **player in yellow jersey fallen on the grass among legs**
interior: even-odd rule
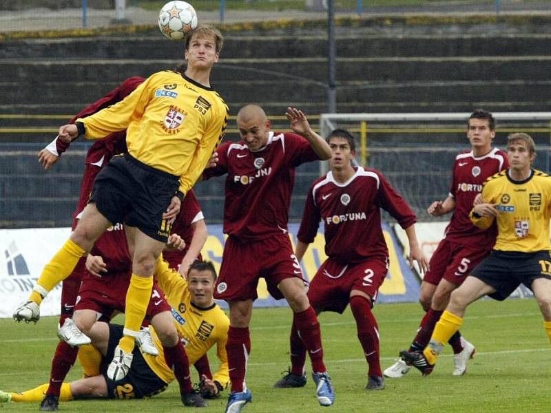
[[[217,396],[229,382],[225,350],[229,319],[213,300],[216,282],[214,266],[211,262],[194,262],[189,268],[186,281],[170,270],[163,261],[156,269],[156,276],[172,308],[174,324],[185,341],[190,363],[195,363],[211,347],[216,346],[220,368],[213,377],[202,377],[201,390],[203,395]],[[152,327],[149,329],[152,330]],[[90,338],[94,346],[105,357],[109,357],[122,334],[122,326],[97,322],[92,327]],[[141,353],[136,348],[134,363],[124,379],[113,381],[107,374],[103,374],[63,383],[60,401],[90,398],[140,399],[163,392],[168,383],[174,380],[174,372],[165,363],[163,346],[154,330],[152,335],[160,352],[157,357]],[[21,393],[0,391],[0,402],[41,401],[47,388],[48,384],[43,384]]]

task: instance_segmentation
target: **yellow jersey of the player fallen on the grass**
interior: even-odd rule
[[[200,308],[191,303],[191,294],[187,289],[186,280],[175,271],[168,268],[163,262],[162,274],[156,273],[158,284],[163,289],[169,306],[172,308],[174,324],[178,334],[185,344],[185,352],[189,364],[194,364],[207,351],[216,345],[216,354],[220,360],[218,372],[213,374],[213,380],[218,381],[222,388],[229,383],[228,358],[226,354],[226,341],[229,330],[229,319],[218,304],[209,308]],[[165,383],[174,380],[174,372],[167,366],[163,354],[163,345],[160,343],[156,332],[149,326],[155,346],[161,350],[157,357],[143,354],[149,368]]]

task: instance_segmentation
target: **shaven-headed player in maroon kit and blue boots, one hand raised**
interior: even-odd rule
[[[320,325],[304,292],[304,278],[287,231],[295,167],[331,156],[329,145],[311,129],[306,116],[287,108],[295,132],[270,131],[258,105],[238,113],[242,142],[225,142],[216,150],[216,167],[203,178],[227,173],[225,184],[225,243],[215,297],[229,304],[227,341],[231,394],[226,412],[240,412],[251,401],[245,370],[251,351],[249,321],[258,279],[264,277],[275,299],[285,297],[300,337],[309,350],[316,394],[322,405],[334,401],[333,386],[323,363]],[[300,135],[300,136],[298,136]]]

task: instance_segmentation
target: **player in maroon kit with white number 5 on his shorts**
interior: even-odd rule
[[[448,305],[452,291],[464,282],[470,271],[490,253],[495,244],[497,227],[494,225],[486,231],[481,230],[470,222],[468,215],[486,178],[508,167],[507,154],[492,148],[492,140],[495,138],[495,119],[492,114],[477,109],[468,118],[467,125],[471,150],[461,152],[455,158],[448,198],[443,202],[435,201],[428,207],[428,213],[437,217],[452,211],[453,215],[446,227],[444,239],[430,259],[430,270],[423,279],[419,301],[426,314],[407,352],[424,350],[440,315]],[[467,361],[475,354],[475,346],[461,337],[459,331],[451,337],[449,343],[454,352],[453,375],[465,374]],[[384,370],[384,375],[399,378],[409,370],[410,366],[404,357],[400,357],[393,366]]]

